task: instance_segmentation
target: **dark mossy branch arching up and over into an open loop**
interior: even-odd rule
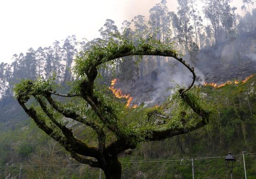
[[[125,46],[125,45],[124,45]],[[101,50],[104,50],[102,48]],[[104,54],[104,53],[102,53]],[[88,82],[84,82],[83,85],[81,86],[81,91],[82,94],[81,96],[90,104],[90,106],[93,108],[94,112],[99,116],[101,121],[106,124],[106,126],[110,129],[110,131],[114,132],[117,137],[119,138],[124,138],[125,133],[120,132],[120,129],[115,123],[117,119],[113,120],[114,118],[108,118],[105,114],[108,114],[109,111],[104,108],[100,108],[99,102],[97,101],[97,98],[94,96],[93,93],[93,88],[94,88],[94,80],[97,76],[97,66],[100,64],[107,62],[107,61],[112,61],[117,58],[122,58],[125,56],[144,56],[144,55],[149,55],[149,56],[168,56],[168,57],[173,57],[176,60],[180,61],[184,66],[188,68],[188,70],[193,74],[193,81],[191,85],[186,89],[183,90],[183,92],[188,91],[194,84],[196,75],[194,73],[194,69],[191,68],[185,61],[183,61],[182,58],[179,58],[177,53],[173,50],[169,49],[150,49],[150,48],[141,48],[140,46],[132,46],[131,48],[125,48],[122,45],[120,45],[118,48],[115,49],[115,53],[110,53],[107,56],[102,55],[99,53],[98,56],[94,56],[96,61],[92,61],[90,65],[88,65],[88,68],[85,68],[85,74],[88,77]],[[182,93],[183,93],[182,92]],[[96,99],[96,100],[95,100]],[[102,111],[104,110],[104,111]],[[111,121],[111,122],[110,122]],[[114,122],[115,121],[115,122]]]

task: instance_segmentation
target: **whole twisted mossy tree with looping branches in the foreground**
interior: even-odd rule
[[[16,98],[37,126],[60,143],[73,159],[91,167],[101,168],[106,179],[120,179],[120,153],[136,148],[141,142],[188,133],[209,122],[210,112],[204,104],[202,105],[200,93],[194,91],[198,88],[192,88],[196,78],[193,68],[172,49],[172,43],[162,44],[152,37],[140,38],[136,43],[124,39],[110,39],[103,47],[94,45],[90,51],[80,53],[76,57],[73,70],[78,80],[72,83],[72,90],[68,94],[56,92],[54,79],[22,80],[16,84]],[[115,102],[95,84],[101,64],[109,63],[110,66],[115,59],[124,56],[139,56],[141,59],[144,55],[173,57],[193,74],[192,84],[187,89],[177,90],[176,95],[172,96],[172,100],[176,100],[175,105],[172,105],[172,111],[175,113],[172,117],[166,114],[162,107],[148,110],[139,107],[144,110],[145,118],[131,119],[122,112],[131,110],[133,113],[141,113],[141,110],[127,108]],[[66,98],[65,102],[59,101],[61,97]],[[37,104],[28,102],[29,99]],[[28,103],[25,104],[26,102]],[[63,117],[84,124],[88,133],[95,134],[95,139],[91,138],[91,135],[87,142],[86,138],[79,139],[78,135],[65,125]],[[164,122],[148,122],[152,118],[163,118]]]

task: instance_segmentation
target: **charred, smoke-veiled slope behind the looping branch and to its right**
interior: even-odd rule
[[[219,45],[206,47],[197,55],[194,63],[191,56],[183,58],[195,66],[196,84],[224,83],[230,80],[244,80],[256,73],[256,33],[248,33]],[[151,59],[152,61],[154,59]],[[145,61],[148,61],[147,57]],[[162,104],[177,84],[188,85],[191,74],[171,58],[162,59],[162,65],[131,83],[127,94],[133,97],[132,105]],[[116,88],[125,92],[122,80]]]

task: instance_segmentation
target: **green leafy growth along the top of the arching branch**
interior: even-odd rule
[[[123,53],[136,53],[139,56],[139,61],[142,59],[142,52],[150,53],[152,51],[163,51],[173,53],[177,52],[173,47],[173,43],[162,43],[157,40],[154,34],[148,34],[148,38],[133,37],[136,41],[129,40],[124,36],[112,36],[108,41],[101,40],[102,46],[94,44],[89,51],[81,51],[76,56],[76,65],[73,71],[78,77],[86,77],[86,72],[91,66],[98,66],[99,64],[110,61],[110,66],[114,63],[113,60],[118,58]],[[117,40],[116,40],[117,39]]]

